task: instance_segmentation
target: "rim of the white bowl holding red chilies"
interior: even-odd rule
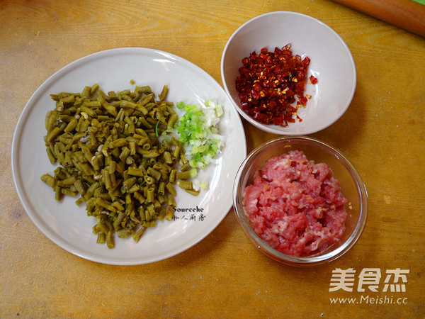
[[[310,19],[316,23],[318,23],[319,25],[323,26],[324,28],[326,28],[327,30],[329,30],[329,32],[334,35],[339,42],[341,43],[341,45],[345,48],[349,60],[351,62],[351,68],[352,69],[352,80],[353,80],[353,86],[351,87],[351,92],[348,96],[348,99],[346,101],[346,105],[344,106],[344,108],[341,108],[341,111],[339,112],[339,114],[337,114],[335,116],[335,118],[333,118],[331,121],[325,123],[325,125],[323,125],[322,127],[319,128],[315,128],[315,129],[305,129],[302,131],[302,133],[300,132],[295,132],[295,131],[283,131],[283,130],[279,130],[279,125],[273,125],[273,124],[263,124],[260,123],[259,121],[254,120],[254,118],[251,118],[251,116],[249,116],[248,114],[246,114],[236,103],[236,101],[234,101],[234,99],[232,98],[232,95],[229,92],[228,89],[228,85],[227,85],[227,81],[225,79],[225,55],[227,53],[227,50],[230,46],[230,44],[232,43],[232,40],[237,36],[237,34],[242,30],[242,28],[246,27],[246,25],[248,25],[249,23],[252,23],[256,20],[259,20],[261,18],[264,18],[266,16],[273,16],[273,15],[293,15],[293,16],[300,16],[302,18],[307,18]],[[350,48],[348,47],[348,45],[346,44],[346,42],[344,41],[344,39],[341,37],[341,35],[339,35],[339,33],[336,33],[336,31],[331,28],[330,26],[328,26],[326,23],[324,23],[323,21],[320,21],[318,18],[314,18],[313,16],[309,16],[305,13],[300,13],[300,12],[295,12],[295,11],[271,11],[271,12],[267,12],[267,13],[263,13],[259,16],[255,16],[254,18],[249,19],[248,21],[244,22],[241,26],[239,26],[236,30],[234,30],[234,33],[232,33],[232,35],[230,36],[229,40],[227,40],[227,43],[225,44],[225,47],[222,51],[222,57],[221,57],[221,61],[220,61],[220,72],[221,72],[221,77],[222,77],[222,84],[223,87],[226,91],[227,96],[229,96],[229,100],[232,102],[232,106],[234,108],[236,108],[236,110],[238,111],[239,115],[242,116],[242,118],[244,118],[246,121],[248,121],[251,125],[254,125],[254,127],[259,128],[260,130],[263,130],[267,133],[273,133],[273,134],[278,134],[278,135],[308,135],[308,134],[312,134],[312,133],[317,133],[320,130],[324,130],[325,128],[328,128],[329,126],[331,126],[332,124],[334,124],[336,121],[339,120],[339,118],[341,118],[341,116],[344,115],[344,113],[346,113],[348,107],[351,105],[351,102],[353,101],[353,97],[354,94],[356,93],[356,86],[357,86],[357,71],[356,71],[356,62],[354,61],[353,58],[353,54],[351,53]]]

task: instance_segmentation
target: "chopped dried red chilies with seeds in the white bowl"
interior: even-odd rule
[[[254,51],[244,57],[236,79],[242,109],[264,124],[286,126],[302,121],[297,108],[307,103],[304,89],[308,65],[310,58],[293,55],[289,44],[282,49],[275,47],[273,52],[263,47],[259,55]],[[310,81],[313,83],[312,76]]]

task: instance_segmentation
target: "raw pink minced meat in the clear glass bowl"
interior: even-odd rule
[[[327,164],[301,151],[273,157],[244,189],[251,228],[273,249],[295,257],[317,254],[345,230],[347,198]]]

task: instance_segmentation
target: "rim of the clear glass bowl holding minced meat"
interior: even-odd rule
[[[336,250],[330,250],[329,252],[325,254],[319,253],[309,257],[294,257],[288,254],[283,254],[282,252],[278,252],[278,250],[274,250],[273,248],[269,247],[267,243],[261,240],[261,238],[258,235],[256,235],[254,230],[252,230],[247,218],[244,215],[244,208],[242,206],[242,201],[237,201],[239,181],[242,177],[242,172],[244,171],[244,167],[246,167],[246,164],[248,164],[256,154],[261,152],[261,150],[268,147],[269,145],[272,145],[276,142],[281,142],[281,141],[290,142],[291,140],[303,140],[303,141],[313,142],[314,144],[321,145],[322,147],[327,148],[327,150],[334,152],[334,156],[337,159],[339,159],[339,162],[341,162],[341,164],[344,164],[346,169],[348,169],[348,172],[350,172],[351,177],[353,177],[356,184],[356,189],[361,199],[358,223],[356,227],[353,229],[353,233],[351,233],[351,235],[348,237],[346,242],[344,242],[344,244],[336,248]],[[341,257],[343,254],[348,252],[348,250],[350,250],[353,247],[353,245],[356,244],[358,239],[361,237],[361,234],[363,233],[365,224],[367,222],[367,217],[368,217],[368,191],[356,167],[354,167],[353,164],[351,164],[351,162],[336,147],[329,145],[327,142],[318,140],[317,138],[311,138],[304,135],[280,136],[277,138],[273,138],[272,140],[268,140],[267,142],[264,142],[259,147],[256,147],[254,150],[252,150],[249,153],[249,155],[244,159],[244,161],[242,162],[242,164],[240,165],[238,169],[238,172],[234,179],[232,197],[233,197],[234,214],[237,218],[237,221],[239,225],[241,226],[242,230],[244,231],[244,234],[246,235],[246,237],[248,237],[249,240],[251,240],[251,242],[256,246],[256,248],[259,249],[261,252],[263,252],[263,254],[266,254],[268,257],[271,257],[271,259],[275,259],[276,261],[283,264],[288,264],[288,265],[297,266],[297,267],[317,266],[319,264],[331,262],[334,259]]]

